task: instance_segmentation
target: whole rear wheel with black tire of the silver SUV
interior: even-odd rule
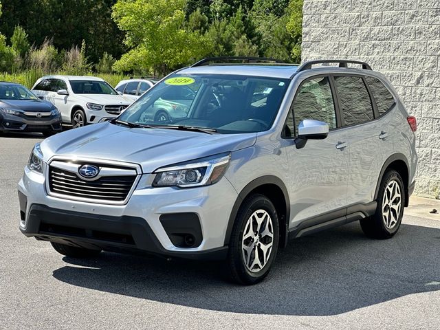
[[[375,214],[360,220],[362,231],[373,239],[390,239],[400,228],[404,206],[403,180],[395,170],[388,170],[380,183]]]

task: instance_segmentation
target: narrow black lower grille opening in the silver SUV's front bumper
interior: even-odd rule
[[[134,245],[133,236],[128,234],[118,234],[115,232],[102,232],[100,230],[86,230],[84,228],[69,227],[65,225],[52,225],[41,223],[39,232],[50,234],[62,234],[66,236],[82,237],[85,239],[96,239],[112,243],[122,243]]]

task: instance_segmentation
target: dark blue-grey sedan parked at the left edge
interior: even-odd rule
[[[40,100],[16,83],[0,82],[0,132],[61,132],[61,114],[51,102]]]

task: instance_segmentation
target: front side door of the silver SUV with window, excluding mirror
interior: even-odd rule
[[[314,76],[301,83],[287,119],[287,135],[298,135],[298,125],[305,119],[327,122],[329,135],[324,140],[308,140],[303,148],[286,148],[290,229],[344,220],[346,215],[349,154],[343,143],[347,137],[340,129],[336,95],[328,76]]]

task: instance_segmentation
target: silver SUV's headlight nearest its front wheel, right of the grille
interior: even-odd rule
[[[177,186],[181,188],[215,184],[225,174],[230,155],[216,155],[199,159],[197,162],[159,168],[153,186]]]

